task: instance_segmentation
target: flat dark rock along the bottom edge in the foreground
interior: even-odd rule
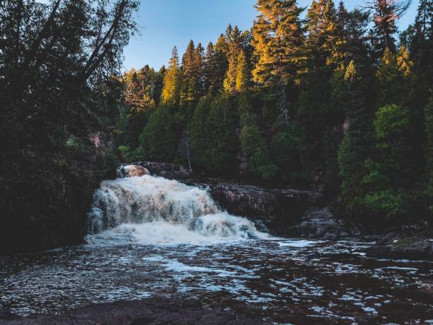
[[[92,304],[59,316],[1,319],[0,324],[272,324],[261,317],[212,307],[198,300],[154,297],[147,300]]]

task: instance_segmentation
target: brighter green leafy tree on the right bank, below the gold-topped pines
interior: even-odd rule
[[[410,113],[400,106],[383,106],[376,113],[374,129],[376,153],[365,162],[369,173],[363,183],[369,190],[363,204],[378,215],[406,215],[417,173]]]

